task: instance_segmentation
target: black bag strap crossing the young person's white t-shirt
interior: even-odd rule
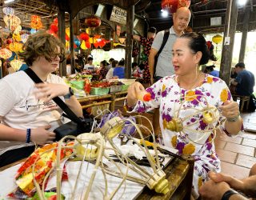
[[[35,82],[35,83],[40,83],[42,80],[38,77],[37,74],[34,73],[33,70],[30,68],[27,68],[24,70],[26,74]],[[76,123],[82,123],[81,119],[78,118],[76,114],[68,106],[66,106],[66,103],[62,101],[61,98],[55,97],[53,98],[54,102],[66,113],[67,117],[70,118],[73,122]]]

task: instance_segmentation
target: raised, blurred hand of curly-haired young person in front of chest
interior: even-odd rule
[[[38,83],[35,84],[37,90],[34,90],[35,98],[49,102],[52,98],[63,96],[69,93],[69,86],[56,83]]]

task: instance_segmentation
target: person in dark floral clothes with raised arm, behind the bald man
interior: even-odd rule
[[[150,69],[148,64],[148,57],[150,55],[151,46],[154,41],[156,32],[157,30],[154,27],[150,27],[150,29],[147,31],[146,38],[140,37],[138,35],[133,35],[134,40],[137,40],[143,46],[142,64],[144,65],[144,70],[143,70],[143,78],[140,81],[142,83],[150,84]]]

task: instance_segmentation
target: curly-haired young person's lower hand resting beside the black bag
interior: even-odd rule
[[[50,125],[32,129],[31,142],[35,142],[40,146],[54,142],[55,133],[50,132],[48,129],[50,129]]]

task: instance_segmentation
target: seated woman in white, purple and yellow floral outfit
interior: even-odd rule
[[[214,131],[210,128],[217,124],[207,124],[202,112],[194,113],[206,107],[208,102],[220,110],[220,118],[226,118],[222,124],[222,130],[226,134],[235,135],[242,130],[238,103],[232,101],[226,83],[220,78],[203,74],[198,69],[198,66],[206,64],[208,60],[206,40],[202,34],[183,34],[173,46],[175,74],[162,78],[146,89],[151,94],[149,102],[138,100],[145,89],[139,82],[134,82],[128,89],[126,101],[126,107],[130,111],[146,112],[159,107],[164,145],[177,149],[182,156],[194,158],[194,198],[198,198],[198,188],[208,180],[207,173],[210,170],[220,171],[220,160],[212,140]],[[183,120],[182,134],[170,130],[170,122],[177,114]],[[184,126],[189,126],[190,130]],[[207,131],[203,132],[204,130]]]

